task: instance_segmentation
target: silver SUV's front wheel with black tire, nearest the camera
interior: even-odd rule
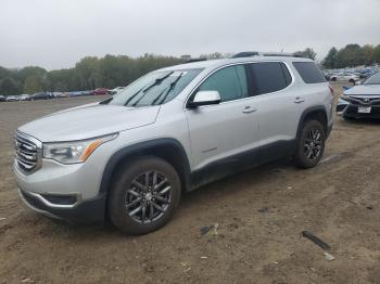
[[[163,182],[164,178],[167,179],[167,184],[165,185],[164,183],[164,185],[162,185],[165,189],[168,186],[170,188],[167,193],[165,193],[165,196],[161,195],[164,190],[162,190],[162,192],[159,192],[160,189],[153,191],[153,188],[156,186],[147,185],[150,189],[148,190],[148,193],[147,188],[144,190],[140,188],[140,185],[143,185],[140,181],[147,182],[147,172],[151,172],[148,173],[148,184],[152,182],[152,184],[156,184],[157,186],[160,185],[157,184],[160,180]],[[152,177],[152,175],[156,175],[156,183],[153,183],[154,177]],[[140,185],[135,186],[136,182]],[[148,196],[148,194],[150,195]],[[144,156],[125,165],[116,173],[109,198],[109,216],[112,222],[126,234],[147,234],[164,227],[170,220],[179,204],[180,195],[180,180],[174,167],[164,159]],[[163,196],[165,197],[166,203],[159,206]],[[132,199],[134,197],[135,199]],[[161,198],[160,201],[159,197]],[[138,202],[135,206],[134,203],[137,202],[138,198],[142,198],[142,201]],[[167,203],[167,201],[169,202]],[[155,205],[159,207],[154,207]],[[140,209],[138,214],[131,215],[134,210],[137,210],[141,206],[145,207],[145,209]],[[160,211],[157,208],[165,208],[165,210]],[[152,215],[150,216],[152,219],[145,220],[144,217],[150,215],[151,211],[154,212],[154,210],[159,215],[155,217]]]

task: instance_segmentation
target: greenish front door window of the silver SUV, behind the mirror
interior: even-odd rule
[[[221,102],[249,96],[245,67],[229,66],[211,75],[199,88],[200,91],[218,91]]]

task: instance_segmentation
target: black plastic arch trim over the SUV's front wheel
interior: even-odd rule
[[[176,139],[162,138],[128,145],[114,153],[105,165],[100,183],[100,194],[109,193],[118,168],[144,155],[163,158],[169,163],[178,172],[182,190],[189,190],[190,164],[183,146]]]

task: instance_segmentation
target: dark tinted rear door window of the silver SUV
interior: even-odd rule
[[[287,88],[291,76],[280,62],[258,62],[251,64],[254,94],[270,93]]]

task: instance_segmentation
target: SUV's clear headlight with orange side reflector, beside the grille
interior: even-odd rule
[[[43,157],[62,164],[84,163],[101,144],[111,141],[117,133],[81,141],[45,143]]]

